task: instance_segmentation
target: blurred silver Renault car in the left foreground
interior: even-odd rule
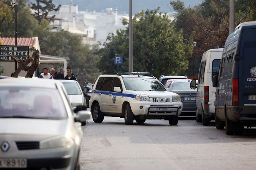
[[[0,80],[0,169],[79,169],[81,123],[59,81]]]

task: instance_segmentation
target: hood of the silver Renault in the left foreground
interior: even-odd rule
[[[68,119],[14,119],[0,118],[0,134],[54,136],[65,134]]]

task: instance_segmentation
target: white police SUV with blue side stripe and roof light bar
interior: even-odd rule
[[[95,123],[105,116],[124,118],[126,125],[146,119],[168,119],[178,124],[182,112],[180,96],[166,91],[156,77],[146,72],[100,75],[92,89],[89,107]]]

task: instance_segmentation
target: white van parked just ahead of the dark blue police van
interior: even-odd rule
[[[215,115],[215,91],[212,87],[212,77],[218,75],[223,48],[210,49],[204,52],[200,63],[196,94],[196,121],[209,125]],[[191,89],[196,89],[196,80],[190,83]]]

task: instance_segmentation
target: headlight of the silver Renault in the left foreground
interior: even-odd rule
[[[68,146],[74,143],[74,141],[66,135],[58,135],[51,138],[47,138],[40,141],[40,148],[56,148],[62,146]]]

